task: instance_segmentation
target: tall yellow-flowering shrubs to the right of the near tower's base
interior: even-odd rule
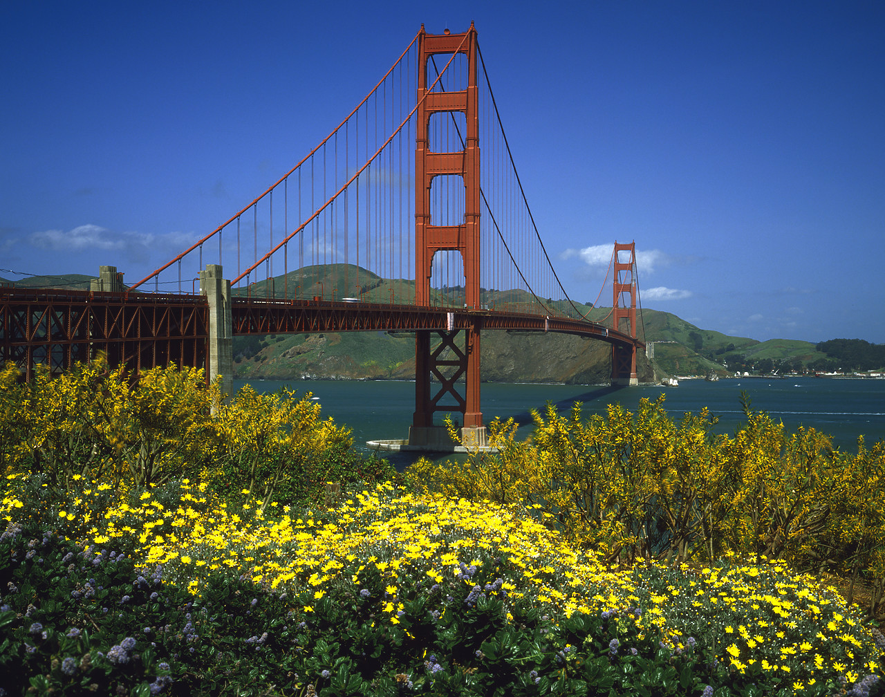
[[[585,419],[549,405],[535,433],[489,426],[497,455],[412,465],[419,490],[541,510],[566,539],[610,563],[780,558],[863,578],[873,614],[885,593],[885,442],[834,451],[814,429],[785,433],[750,410],[734,437],[707,410],[668,417],[664,396],[635,414],[614,404]]]

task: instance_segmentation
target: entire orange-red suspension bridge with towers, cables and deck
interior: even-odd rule
[[[29,379],[36,364],[63,371],[104,351],[136,374],[204,367],[229,394],[235,335],[414,333],[408,444],[450,445],[434,421],[445,412],[484,447],[484,331],[606,341],[612,383],[636,384],[632,241],[615,242],[610,274],[612,308],[591,321],[535,225],[473,24],[422,26],[316,148],[142,280],[124,287],[107,266],[89,291],[0,288],[0,361]]]

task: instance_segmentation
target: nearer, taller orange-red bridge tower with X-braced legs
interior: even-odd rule
[[[466,89],[443,92],[430,89],[427,79],[427,61],[437,54],[465,54],[467,66]],[[464,34],[427,34],[424,27],[418,36],[418,120],[415,142],[415,303],[430,304],[430,278],[433,259],[438,251],[458,251],[464,262],[465,304],[468,309],[480,307],[480,127],[479,88],[476,84],[477,48],[473,23]],[[428,84],[429,83],[429,84]],[[458,152],[432,152],[428,130],[433,114],[461,112],[466,118],[464,149]],[[435,177],[460,176],[464,180],[464,220],[458,225],[436,225],[431,219],[430,193]],[[409,433],[410,445],[432,445],[437,439],[448,440],[440,426],[434,426],[435,411],[460,411],[464,415],[462,439],[465,445],[484,446],[485,427],[480,410],[480,328],[481,319],[470,320],[465,332],[462,351],[454,343],[458,329],[438,334],[443,346],[430,351],[429,331],[420,331],[415,344],[415,412]],[[448,347],[456,360],[443,361],[440,356]],[[454,375],[446,377],[443,370],[454,367]],[[442,385],[437,394],[431,394],[432,376]],[[465,394],[455,387],[460,377],[465,379]],[[450,395],[458,408],[440,406],[438,402]]]

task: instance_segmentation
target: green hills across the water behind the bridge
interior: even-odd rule
[[[32,276],[14,281],[14,285],[83,290],[89,289],[92,278],[76,273]],[[13,285],[13,282],[0,279],[0,286],[3,285]],[[365,302],[393,299],[397,303],[411,303],[415,283],[384,279],[353,264],[327,264],[305,266],[276,277],[270,284],[259,281],[249,287],[235,288],[233,293],[280,297],[325,295],[354,297]],[[462,287],[434,289],[431,302],[458,303],[463,294]],[[481,303],[489,309],[507,306],[519,310],[534,301],[521,290],[481,289]],[[571,317],[594,321],[602,321],[611,311],[564,300],[544,302]],[[650,343],[653,354],[651,362],[644,354],[637,359],[639,378],[643,382],[657,382],[669,375],[828,371],[846,361],[845,356],[824,352],[830,344],[843,353],[849,349],[855,353],[860,350],[854,345],[858,340],[835,340],[816,346],[808,341],[757,341],[728,336],[701,329],[670,312],[658,310],[643,310],[639,325],[640,338]],[[872,345],[861,349],[867,353],[879,350]],[[610,353],[609,345],[602,341],[567,334],[487,331],[481,341],[482,374],[483,379],[489,381],[596,384],[609,379]],[[234,358],[237,378],[409,379],[415,370],[414,340],[408,333],[235,337]]]

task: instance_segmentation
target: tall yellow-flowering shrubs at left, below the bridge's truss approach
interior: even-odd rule
[[[38,366],[27,384],[10,363],[0,368],[0,472],[42,475],[49,492],[81,503],[90,488],[116,498],[181,479],[232,502],[317,502],[332,477],[395,475],[353,452],[350,431],[320,410],[287,389],[246,386],[223,402],[194,368],[153,368],[134,381],[99,356],[61,376]]]

